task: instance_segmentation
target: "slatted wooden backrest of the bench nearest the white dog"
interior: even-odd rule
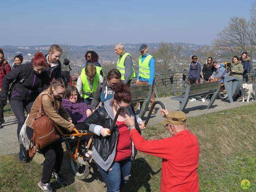
[[[218,89],[220,81],[190,85],[190,95],[203,94]]]

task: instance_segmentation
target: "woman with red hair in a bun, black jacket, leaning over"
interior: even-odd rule
[[[39,89],[45,90],[50,85],[49,76],[45,71],[46,68],[44,55],[42,52],[37,52],[31,64],[19,66],[4,76],[2,81],[0,106],[6,104],[9,86],[12,84],[9,98],[12,112],[18,121],[18,141],[20,141],[20,130],[25,122],[24,109],[29,113],[34,100],[40,94]],[[27,162],[26,148],[23,144],[20,144],[19,160]]]

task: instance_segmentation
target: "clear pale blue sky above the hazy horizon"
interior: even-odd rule
[[[0,46],[212,44],[253,0],[5,0]]]

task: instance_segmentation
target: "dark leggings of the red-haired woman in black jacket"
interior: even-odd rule
[[[20,143],[20,130],[25,122],[25,112],[24,109],[27,111],[27,113],[30,113],[30,110],[32,108],[33,102],[30,103],[24,103],[22,101],[11,99],[10,100],[10,106],[12,108],[12,112],[14,113],[17,121],[18,121],[18,129],[17,129],[17,135],[18,135],[18,141]],[[20,150],[24,149],[25,147],[23,144],[20,144]]]

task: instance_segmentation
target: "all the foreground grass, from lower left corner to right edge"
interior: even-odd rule
[[[256,104],[231,110],[191,117],[187,128],[200,145],[198,177],[201,192],[240,192],[240,182],[251,182],[249,192],[256,191]],[[160,120],[159,120],[160,121]],[[160,124],[148,126],[142,136],[157,139],[168,136]],[[1,192],[39,192],[37,186],[42,167],[36,162],[24,164],[17,154],[0,156]],[[159,192],[162,159],[138,152],[132,164],[130,181],[124,192]],[[51,185],[57,191],[78,191],[73,184],[61,187],[56,180]],[[93,191],[93,189],[91,189]]]

